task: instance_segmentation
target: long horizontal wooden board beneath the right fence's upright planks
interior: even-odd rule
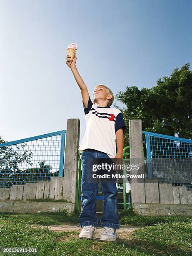
[[[192,216],[192,205],[175,204],[133,204],[134,211],[148,216]]]

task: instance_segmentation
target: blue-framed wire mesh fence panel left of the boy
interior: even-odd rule
[[[63,176],[66,130],[0,144],[0,188]]]

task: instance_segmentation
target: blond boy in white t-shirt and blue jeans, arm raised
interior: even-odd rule
[[[82,207],[79,216],[79,224],[83,228],[79,238],[93,239],[93,232],[98,225],[96,216],[96,196],[98,183],[88,183],[88,159],[100,158],[123,158],[124,139],[123,133],[126,126],[120,110],[110,108],[113,102],[113,93],[105,85],[97,85],[93,91],[93,102],[90,99],[87,87],[83,82],[75,65],[77,57],[71,60],[67,55],[66,64],[70,67],[75,80],[80,87],[83,108],[86,119],[85,135],[80,143],[79,150],[82,151]],[[117,140],[117,154],[116,143]],[[116,241],[116,229],[120,228],[117,212],[118,189],[115,182],[104,182],[101,180],[103,200],[103,215],[100,219],[104,232],[100,241]]]

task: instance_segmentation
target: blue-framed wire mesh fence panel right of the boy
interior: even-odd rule
[[[192,189],[192,140],[142,133],[146,138],[148,178]]]

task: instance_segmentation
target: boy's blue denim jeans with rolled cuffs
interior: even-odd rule
[[[106,153],[97,150],[86,149],[82,151],[82,178],[81,178],[81,199],[82,207],[79,216],[79,224],[84,226],[98,225],[96,216],[96,196],[98,192],[98,183],[87,182],[87,159],[109,158]],[[117,194],[118,189],[116,182],[105,182],[101,179],[101,190],[104,195],[103,199],[103,215],[100,219],[101,227],[120,228],[120,222],[117,212]]]

